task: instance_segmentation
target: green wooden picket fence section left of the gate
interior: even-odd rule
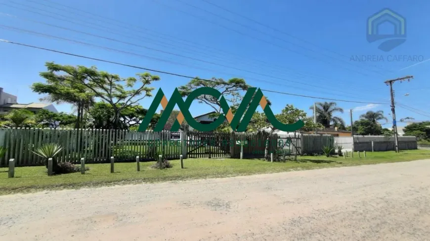
[[[186,135],[182,135],[184,137]],[[43,160],[33,151],[44,143],[58,143],[64,149],[57,154],[58,162],[86,163],[155,160],[163,154],[167,159],[179,159],[183,147],[171,139],[170,132],[130,132],[128,130],[93,129],[1,129],[0,143],[7,148],[0,166],[14,158],[17,166],[40,166]]]

